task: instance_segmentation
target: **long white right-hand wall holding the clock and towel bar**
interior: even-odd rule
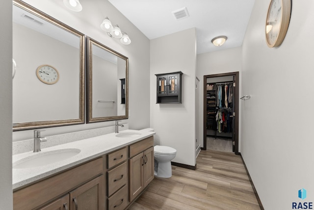
[[[241,102],[241,154],[264,209],[288,210],[314,202],[314,1],[293,1],[286,38],[272,49],[268,5],[255,1],[242,46],[242,95],[251,99]]]

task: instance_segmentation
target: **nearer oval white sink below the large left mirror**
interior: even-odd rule
[[[61,160],[74,157],[80,153],[79,149],[61,149],[34,153],[34,155],[13,162],[14,169],[33,168],[48,165]]]

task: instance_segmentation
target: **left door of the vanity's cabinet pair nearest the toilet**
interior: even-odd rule
[[[144,157],[143,153],[130,158],[130,202],[144,189]]]

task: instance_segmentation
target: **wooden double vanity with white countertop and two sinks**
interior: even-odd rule
[[[14,155],[14,209],[127,209],[154,179],[154,134],[126,130]]]

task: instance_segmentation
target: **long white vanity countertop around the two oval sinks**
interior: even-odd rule
[[[62,161],[47,164],[44,166],[37,166],[37,167],[25,168],[25,169],[13,168],[12,169],[12,174],[13,174],[12,175],[12,179],[13,179],[12,187],[13,189],[20,188],[21,186],[30,184],[37,180],[41,180],[45,177],[48,177],[50,175],[53,175],[65,169],[68,169],[80,163],[86,162],[95,157],[99,157],[104,154],[110,153],[114,150],[130,145],[134,142],[140,141],[142,139],[145,139],[155,134],[155,132],[147,131],[145,129],[140,130],[140,131],[126,130],[126,131],[121,131],[119,133],[130,132],[130,131],[139,132],[141,134],[135,137],[116,137],[115,135],[117,133],[109,133],[105,135],[100,135],[100,136],[96,136],[92,138],[87,138],[87,139],[83,139],[79,141],[66,143],[66,144],[61,144],[61,145],[57,145],[57,146],[53,146],[49,148],[44,148],[44,149],[41,149],[41,152],[38,152],[38,153],[27,152],[27,153],[14,155],[12,157],[13,164],[14,162],[19,161],[23,158],[26,158],[26,157],[31,158],[31,156],[33,155],[45,153],[48,151],[67,150],[67,149],[79,149],[80,150],[80,153],[78,153],[74,157],[70,157]]]

